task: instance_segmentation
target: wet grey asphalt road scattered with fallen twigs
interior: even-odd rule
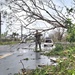
[[[12,53],[12,55],[0,59],[0,75],[14,75],[24,67],[35,69],[38,65],[50,65],[52,62],[40,52],[34,52],[34,43],[22,43],[17,45],[0,46],[0,55]],[[28,60],[24,60],[28,58]]]

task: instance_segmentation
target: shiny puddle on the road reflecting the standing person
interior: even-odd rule
[[[22,57],[22,62],[27,69],[35,69],[38,65],[50,65],[53,62],[50,57],[41,55],[40,52],[34,52],[33,50],[19,49],[18,58]]]

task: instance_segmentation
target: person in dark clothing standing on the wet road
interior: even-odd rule
[[[38,32],[38,30],[36,30],[36,34],[35,34],[35,50],[37,51],[38,45],[39,45],[39,49],[41,51],[41,36],[42,34],[40,32]]]

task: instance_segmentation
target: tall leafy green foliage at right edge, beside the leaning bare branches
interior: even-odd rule
[[[65,21],[65,24],[68,32],[67,40],[69,42],[75,42],[75,24],[69,18]]]

